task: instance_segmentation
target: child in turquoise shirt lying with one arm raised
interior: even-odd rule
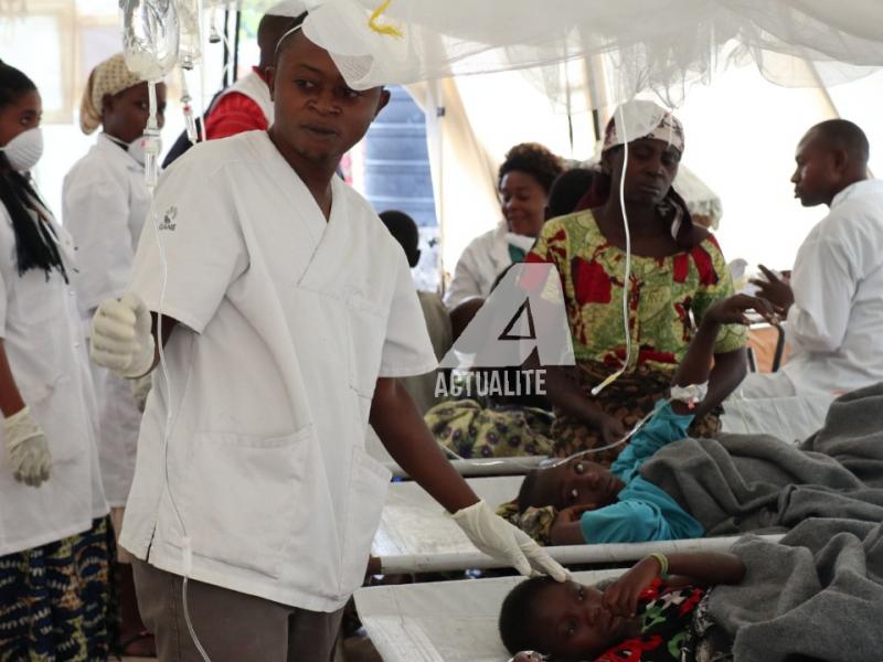
[[[709,308],[672,377],[675,398],[679,387],[704,386],[717,332],[723,324],[747,324],[745,311],[751,309],[774,321],[776,311],[770,303],[745,295],[720,300]],[[518,514],[513,515],[507,505],[501,514],[508,509],[511,520],[540,542],[552,545],[701,537],[702,525],[639,473],[657,450],[688,436],[692,406],[692,402],[680,399],[670,404],[660,401],[652,418],[635,434],[609,470],[578,457],[531,471],[518,495]],[[538,513],[544,517],[535,516]]]

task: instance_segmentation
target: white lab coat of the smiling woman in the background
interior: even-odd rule
[[[454,278],[445,293],[445,306],[448,310],[472,297],[487,297],[497,277],[512,264],[509,245],[514,244],[522,250],[530,250],[533,243],[533,237],[509,232],[506,220],[494,229],[469,242],[457,260]]]

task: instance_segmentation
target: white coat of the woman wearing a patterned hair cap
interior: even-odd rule
[[[135,249],[150,210],[143,167],[102,134],[64,178],[62,207],[79,266],[71,278],[88,327],[95,308],[109,297],[123,296],[131,279]],[[94,364],[91,370],[105,494],[111,506],[121,506],[135,474],[141,413],[127,380]]]

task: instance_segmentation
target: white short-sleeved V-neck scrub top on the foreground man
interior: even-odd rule
[[[131,290],[184,327],[170,382],[155,372],[120,537],[183,574],[187,534],[191,577],[315,611],[361,585],[383,508],[390,472],[364,450],[376,378],[436,366],[404,252],[331,186],[326,222],[264,131],[198,145],[163,175]]]

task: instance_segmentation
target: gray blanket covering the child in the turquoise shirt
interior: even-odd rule
[[[799,446],[765,435],[683,439],[641,474],[710,535],[791,528],[808,517],[881,522],[883,384],[837,399]]]

